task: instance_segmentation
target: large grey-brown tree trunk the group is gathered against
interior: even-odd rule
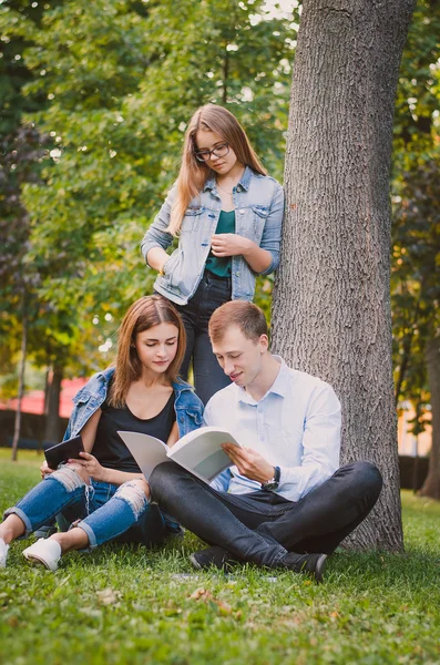
[[[273,347],[342,403],[341,463],[385,480],[350,538],[402,549],[391,367],[389,166],[399,62],[413,0],[305,0],[286,153]]]

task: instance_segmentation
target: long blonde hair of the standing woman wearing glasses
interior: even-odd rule
[[[237,119],[223,106],[205,104],[194,113],[185,134],[181,171],[177,177],[177,195],[171,211],[168,231],[174,236],[178,234],[185,211],[190,202],[199,194],[209,176],[211,168],[205,162],[195,157],[196,133],[199,129],[219,134],[231,145],[238,162],[250,166],[256,173],[266,175],[246,132]]]

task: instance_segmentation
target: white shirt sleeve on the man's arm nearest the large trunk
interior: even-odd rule
[[[280,467],[277,492],[289,501],[299,501],[339,468],[340,402],[328,383],[315,389],[304,427],[300,466]]]

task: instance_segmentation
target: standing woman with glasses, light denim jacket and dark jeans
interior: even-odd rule
[[[172,300],[186,330],[182,376],[193,361],[204,403],[229,383],[211,349],[207,324],[227,300],[252,300],[255,276],[279,262],[283,187],[269,177],[234,115],[215,104],[190,121],[181,171],[142,241],[158,272],[157,293]],[[171,254],[166,249],[178,237]]]

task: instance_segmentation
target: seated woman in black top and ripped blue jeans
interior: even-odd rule
[[[81,459],[55,471],[44,463],[43,480],[4,512],[0,524],[0,567],[9,543],[27,538],[54,515],[71,528],[23,551],[25,559],[54,571],[69,550],[95,548],[117,536],[151,546],[180,526],[150,503],[150,488],[117,430],[152,434],[172,446],[202,423],[203,405],[177,379],[185,329],[162,296],[136,300],[119,330],[115,367],[96,374],[74,398],[66,438],[81,433]],[[93,452],[93,454],[92,454]]]

